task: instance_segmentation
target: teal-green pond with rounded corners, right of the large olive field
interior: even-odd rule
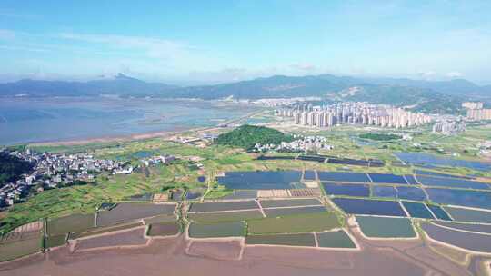
[[[361,232],[369,238],[416,237],[413,224],[407,218],[356,216],[356,222],[358,222]]]

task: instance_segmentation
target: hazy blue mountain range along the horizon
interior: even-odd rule
[[[89,82],[21,80],[0,84],[0,96],[99,96],[235,99],[319,96],[326,100],[367,101],[413,105],[415,110],[455,113],[465,100],[488,100],[491,85],[464,79],[423,81],[396,78],[356,78],[332,74],[257,78],[230,84],[179,87],[117,74]]]

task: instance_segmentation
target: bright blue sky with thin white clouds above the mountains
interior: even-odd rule
[[[339,74],[491,84],[491,1],[0,2],[0,81]]]

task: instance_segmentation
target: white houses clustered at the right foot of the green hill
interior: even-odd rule
[[[323,136],[294,136],[296,140],[292,142],[282,142],[280,144],[260,144],[256,143],[254,151],[264,153],[268,151],[278,152],[310,152],[318,150],[332,150],[334,147],[327,143],[326,137]]]

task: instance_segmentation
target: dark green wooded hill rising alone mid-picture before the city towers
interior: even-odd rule
[[[245,149],[253,148],[256,143],[291,142],[293,137],[265,126],[242,125],[229,133],[223,133],[216,138],[215,143],[231,145]]]

